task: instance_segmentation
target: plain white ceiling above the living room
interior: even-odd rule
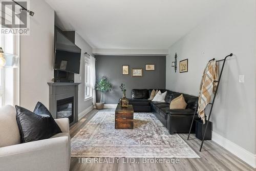
[[[97,49],[168,49],[226,0],[46,0]]]

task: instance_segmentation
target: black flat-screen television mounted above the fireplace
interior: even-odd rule
[[[81,49],[57,31],[55,37],[54,69],[79,74]]]

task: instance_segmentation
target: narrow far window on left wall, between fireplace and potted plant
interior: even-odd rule
[[[84,91],[84,97],[85,99],[89,99],[92,97],[92,87],[91,87],[91,67],[90,67],[90,58],[89,57],[85,57],[86,61],[85,61],[85,68],[84,68],[84,84],[85,84],[85,91]]]

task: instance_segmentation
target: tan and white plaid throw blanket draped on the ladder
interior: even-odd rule
[[[211,60],[208,62],[201,81],[200,85],[200,94],[199,94],[199,100],[198,100],[198,115],[202,119],[203,124],[205,124],[205,113],[204,109],[206,108],[206,105],[210,103],[211,96],[215,94],[217,84],[217,81],[219,79],[219,69],[217,62],[214,60]]]

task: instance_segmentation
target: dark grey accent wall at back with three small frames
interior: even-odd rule
[[[102,76],[109,78],[113,90],[103,95],[103,101],[107,104],[116,104],[122,97],[119,88],[121,83],[126,86],[126,97],[131,98],[132,89],[165,89],[165,56],[114,56],[95,55],[96,81]],[[146,64],[155,64],[155,71],[145,71]],[[129,65],[129,75],[122,75],[122,66]],[[132,77],[132,68],[142,68],[142,77]],[[97,101],[100,100],[100,92],[96,91]]]

